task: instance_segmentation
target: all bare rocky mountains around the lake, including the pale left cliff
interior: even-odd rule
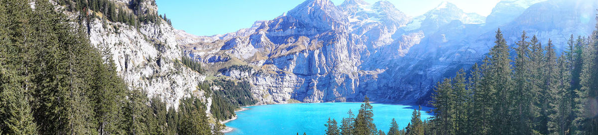
[[[157,11],[152,1],[141,5],[136,12]],[[259,104],[359,102],[366,95],[377,102],[417,103],[443,77],[480,62],[498,27],[511,46],[526,30],[563,51],[570,34],[591,33],[597,8],[593,0],[505,0],[483,17],[443,2],[410,17],[386,1],[337,6],[307,0],[234,33],[195,36],[166,23],[135,27],[94,19],[89,35],[132,89],[169,105],[196,95],[209,109],[211,100],[197,89],[206,79],[249,81]],[[181,64],[185,55],[208,73]]]

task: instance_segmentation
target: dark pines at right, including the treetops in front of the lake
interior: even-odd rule
[[[495,38],[481,64],[438,82],[431,120],[414,111],[407,127],[398,130],[393,120],[387,133],[598,134],[598,24],[590,37],[571,35],[560,55],[552,40],[542,46],[526,32],[514,48],[500,29]],[[349,111],[340,127],[328,120],[326,134],[385,134],[371,123],[365,101],[358,117]]]

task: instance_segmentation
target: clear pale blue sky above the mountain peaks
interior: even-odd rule
[[[175,29],[198,36],[236,32],[257,20],[272,20],[304,0],[155,0],[158,13],[166,14]],[[344,0],[331,0],[339,5]],[[365,0],[374,4],[379,0]],[[443,1],[465,12],[488,15],[500,0],[389,0],[410,16],[422,15]]]

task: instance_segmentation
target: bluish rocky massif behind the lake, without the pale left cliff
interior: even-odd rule
[[[566,45],[560,37],[590,34],[595,21],[584,17],[595,14],[590,9],[598,8],[596,2],[567,2],[504,1],[486,18],[448,2],[408,17],[386,1],[335,6],[307,0],[226,36],[176,34],[185,54],[212,68],[214,76],[250,81],[260,103],[361,101],[365,95],[377,102],[414,103],[428,98],[443,77],[479,62],[499,26],[509,45],[522,30],[543,42],[553,38],[557,48]],[[252,70],[216,72],[237,64]]]

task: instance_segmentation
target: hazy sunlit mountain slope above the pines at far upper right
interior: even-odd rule
[[[550,38],[562,52],[570,35],[589,36],[596,24],[597,1],[545,1],[531,5],[527,10],[505,24],[505,31],[525,30],[544,42]],[[547,20],[547,21],[534,21]],[[515,33],[507,33],[514,36]]]

